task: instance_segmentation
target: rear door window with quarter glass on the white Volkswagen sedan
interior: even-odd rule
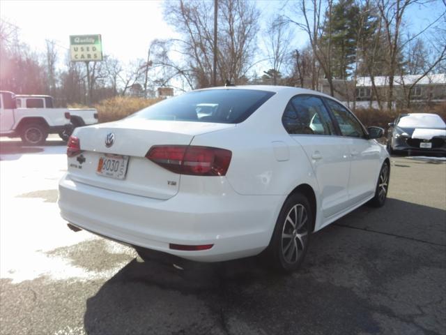
[[[282,124],[290,134],[332,135],[334,126],[328,110],[316,96],[295,96],[286,105]]]

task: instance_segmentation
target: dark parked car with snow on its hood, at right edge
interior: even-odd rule
[[[389,127],[387,151],[390,154],[446,155],[446,124],[437,114],[401,114]]]

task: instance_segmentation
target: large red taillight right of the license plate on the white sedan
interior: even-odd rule
[[[226,149],[194,145],[155,145],[146,158],[167,170],[194,176],[224,176],[232,153]]]

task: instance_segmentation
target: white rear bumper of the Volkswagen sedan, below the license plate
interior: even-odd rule
[[[72,181],[59,183],[61,216],[79,228],[124,244],[203,262],[243,258],[268,246],[282,195],[192,195],[169,200],[129,195]],[[169,244],[213,244],[206,251]]]

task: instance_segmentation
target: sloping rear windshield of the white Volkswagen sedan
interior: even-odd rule
[[[193,91],[155,103],[130,117],[238,124],[245,121],[274,94],[254,89]]]

